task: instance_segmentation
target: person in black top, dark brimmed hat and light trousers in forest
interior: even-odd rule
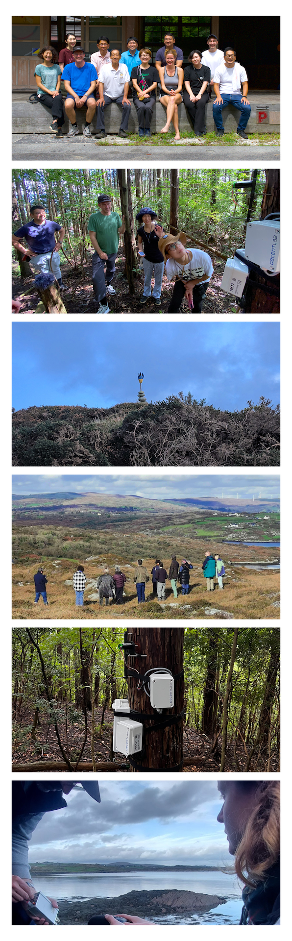
[[[164,229],[159,226],[159,231],[156,231],[154,219],[157,218],[157,214],[149,206],[140,209],[136,218],[141,222],[138,229],[138,253],[142,257],[145,275],[143,295],[140,297],[139,302],[140,304],[146,304],[148,298],[151,297],[151,280],[154,276],[153,298],[154,304],[159,307],[164,258],[158,248],[158,239],[161,238]]]

